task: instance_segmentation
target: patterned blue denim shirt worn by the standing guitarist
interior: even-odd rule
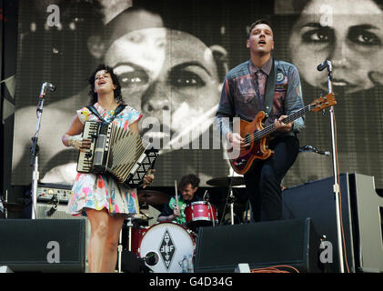
[[[257,68],[251,59],[230,70],[225,78],[221,99],[217,110],[217,124],[224,136],[232,131],[229,118],[235,117],[252,121],[257,113],[265,110],[265,85],[270,74],[273,59],[270,57],[265,65]],[[277,61],[277,82],[273,107],[265,122],[274,123],[280,115],[291,115],[304,106],[300,78],[295,65]],[[305,124],[305,117],[294,121],[293,132],[299,132]],[[274,133],[273,135],[280,135]]]

